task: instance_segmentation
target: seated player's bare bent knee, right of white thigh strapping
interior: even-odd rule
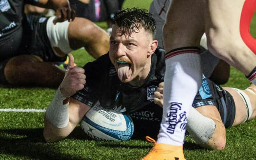
[[[68,27],[68,39],[72,49],[85,47],[94,58],[98,58],[109,50],[109,35],[92,21],[75,18]]]

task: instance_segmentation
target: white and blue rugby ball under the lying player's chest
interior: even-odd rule
[[[84,132],[95,140],[129,140],[134,132],[129,115],[104,109],[99,103],[90,108],[80,125]]]

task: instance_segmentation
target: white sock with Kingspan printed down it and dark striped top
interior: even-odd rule
[[[163,116],[157,143],[183,145],[188,112],[202,82],[198,53],[190,48],[166,55]]]

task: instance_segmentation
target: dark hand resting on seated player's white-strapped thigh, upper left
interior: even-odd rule
[[[76,12],[70,8],[69,2],[67,6],[62,6],[56,9],[55,13],[56,18],[53,20],[53,23],[56,24],[58,22],[63,21],[73,21],[76,16]]]

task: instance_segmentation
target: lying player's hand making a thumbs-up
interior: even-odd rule
[[[84,68],[74,67],[74,57],[68,54],[68,68],[65,73],[65,77],[60,84],[60,92],[65,98],[69,98],[76,91],[82,90],[86,76],[84,74]]]

